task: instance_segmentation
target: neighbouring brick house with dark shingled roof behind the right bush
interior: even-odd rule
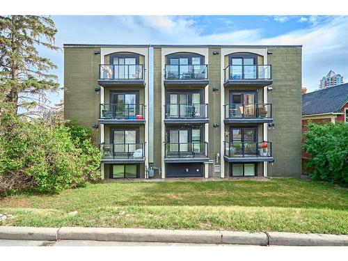
[[[302,95],[302,132],[307,132],[308,122],[348,123],[348,84],[316,90]],[[302,173],[308,173],[306,162],[310,158],[302,152]]]

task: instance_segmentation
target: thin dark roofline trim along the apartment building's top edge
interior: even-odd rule
[[[63,44],[63,47],[297,47],[302,45],[104,45],[104,44]]]

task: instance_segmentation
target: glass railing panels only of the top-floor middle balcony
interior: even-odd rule
[[[166,65],[165,79],[208,79],[208,65]]]

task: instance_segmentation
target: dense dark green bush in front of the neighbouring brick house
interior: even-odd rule
[[[348,184],[348,125],[308,123],[303,150],[311,155],[310,177],[342,185]]]

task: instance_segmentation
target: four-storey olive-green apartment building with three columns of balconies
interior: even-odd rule
[[[299,177],[301,46],[64,45],[102,178]]]

